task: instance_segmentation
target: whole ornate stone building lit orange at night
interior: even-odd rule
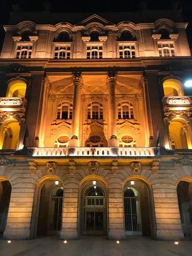
[[[192,237],[192,59],[180,10],[12,12],[0,57],[0,235]]]

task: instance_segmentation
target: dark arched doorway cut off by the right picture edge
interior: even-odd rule
[[[177,196],[184,236],[192,238],[192,181],[180,181]]]

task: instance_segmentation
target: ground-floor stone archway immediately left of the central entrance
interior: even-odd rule
[[[58,181],[59,184],[55,184],[55,181]],[[60,177],[55,175],[43,176],[37,181],[31,218],[31,238],[36,238],[37,236],[47,236],[50,234],[59,235],[61,233],[61,230],[57,230],[57,227],[54,229],[55,219],[52,211],[53,209],[50,208],[51,195],[53,194],[53,189],[55,189],[57,186],[58,189],[64,189],[64,182]],[[61,218],[59,219],[60,224],[58,225],[59,228],[62,226],[63,201],[64,196],[58,202],[61,204]]]

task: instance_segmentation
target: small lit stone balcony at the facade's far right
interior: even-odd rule
[[[192,97],[191,96],[171,96],[164,97],[164,116],[186,116],[192,114]]]

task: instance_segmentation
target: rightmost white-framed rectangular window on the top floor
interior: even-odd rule
[[[160,57],[175,56],[174,42],[158,42],[158,53]]]

